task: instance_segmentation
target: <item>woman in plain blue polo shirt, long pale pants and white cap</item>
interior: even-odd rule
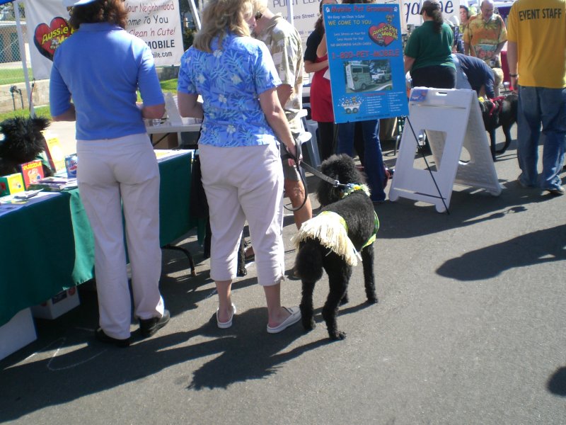
[[[95,242],[96,338],[125,347],[132,307],[122,210],[141,335],[151,336],[169,320],[158,287],[159,169],[143,120],[161,118],[165,104],[149,47],[124,30],[124,1],[63,5],[72,7],[69,24],[76,32],[53,57],[51,115],[76,120],[77,179]]]

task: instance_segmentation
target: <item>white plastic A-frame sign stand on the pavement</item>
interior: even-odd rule
[[[501,193],[475,91],[415,87],[410,94],[408,120],[389,190],[390,200],[420,200],[445,212],[454,183],[483,188],[493,196]],[[436,171],[414,167],[415,135],[422,131],[426,132]],[[462,147],[470,155],[469,162],[460,161]]]

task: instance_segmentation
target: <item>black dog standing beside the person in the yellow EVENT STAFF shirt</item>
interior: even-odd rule
[[[485,130],[490,133],[491,155],[494,161],[495,154],[504,153],[511,143],[511,126],[517,122],[518,105],[519,96],[516,93],[480,101],[483,125],[485,125]],[[505,135],[505,144],[502,149],[497,150],[495,130],[500,126],[503,128]]]

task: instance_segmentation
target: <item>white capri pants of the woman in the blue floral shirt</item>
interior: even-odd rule
[[[270,145],[199,145],[212,240],[210,277],[236,278],[238,245],[248,221],[258,283],[284,279],[283,170],[279,148]]]

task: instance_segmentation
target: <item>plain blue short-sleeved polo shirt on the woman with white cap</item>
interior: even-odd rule
[[[51,115],[76,109],[76,139],[99,140],[146,131],[136,106],[164,103],[154,57],[140,38],[110,23],[82,23],[53,57]]]

